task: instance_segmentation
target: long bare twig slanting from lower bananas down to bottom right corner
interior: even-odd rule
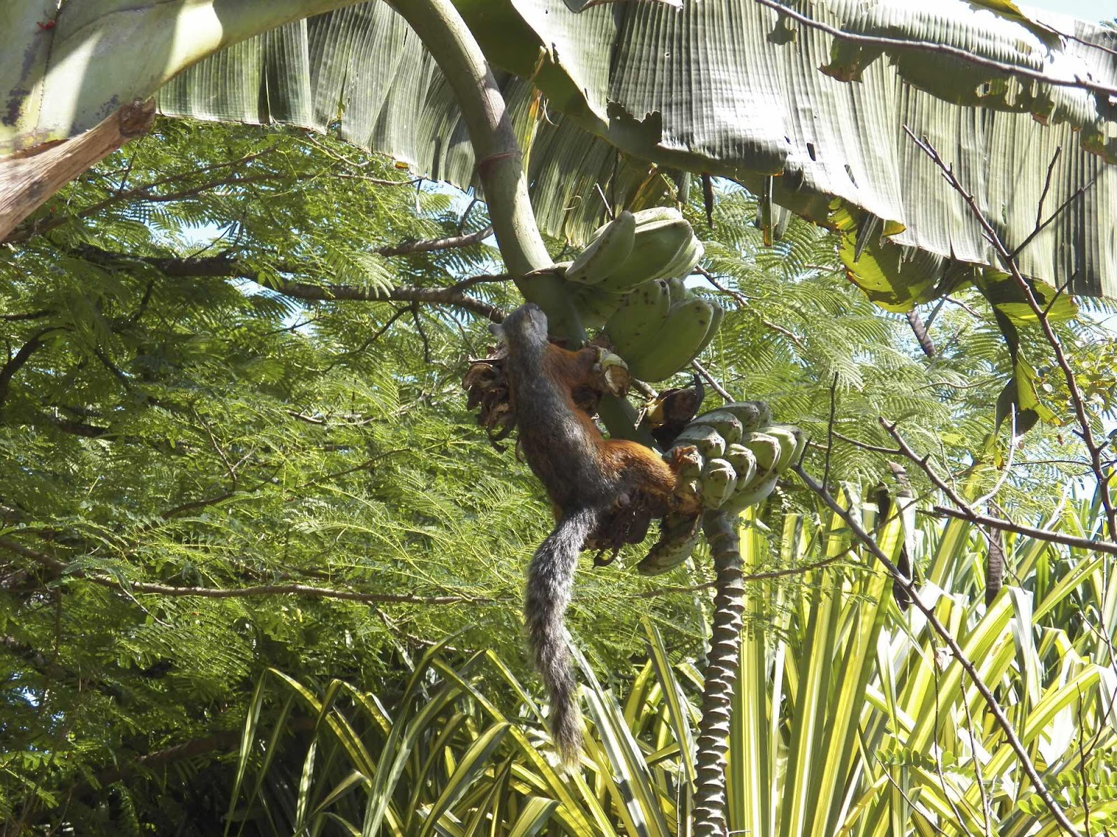
[[[923,615],[927,619],[927,624],[930,625],[934,632],[938,634],[939,638],[942,638],[942,641],[946,643],[947,647],[953,653],[954,658],[957,661],[958,665],[962,666],[963,671],[965,671],[967,675],[970,675],[971,682],[973,682],[974,687],[984,699],[985,705],[989,708],[989,711],[993,715],[994,721],[996,721],[996,725],[1001,728],[1001,732],[1004,733],[1004,738],[1009,742],[1009,747],[1011,747],[1012,751],[1015,753],[1018,762],[1020,763],[1024,773],[1028,776],[1029,780],[1031,780],[1032,786],[1035,789],[1035,793],[1040,797],[1040,799],[1043,800],[1043,804],[1047,806],[1047,809],[1051,812],[1051,816],[1054,819],[1054,821],[1068,835],[1077,835],[1073,825],[1067,818],[1067,815],[1063,812],[1058,800],[1056,800],[1056,798],[1051,796],[1051,792],[1047,789],[1047,786],[1043,783],[1043,778],[1039,775],[1039,771],[1035,769],[1035,764],[1032,763],[1031,757],[1028,754],[1028,750],[1020,741],[1020,737],[1016,734],[1015,729],[1013,729],[1012,722],[1009,720],[1009,716],[1004,713],[1004,710],[997,702],[996,696],[985,684],[985,681],[982,680],[981,673],[977,671],[977,667],[973,664],[973,662],[966,656],[962,646],[958,644],[958,641],[954,638],[954,635],[939,620],[938,616],[935,614],[935,608],[923,603],[923,600],[919,598],[918,590],[916,590],[915,588],[915,585],[909,579],[904,577],[904,574],[900,573],[899,568],[895,564],[892,564],[892,561],[888,558],[887,555],[885,555],[884,550],[880,549],[880,547],[877,545],[877,541],[872,538],[872,536],[866,532],[865,529],[861,527],[861,525],[855,519],[855,517],[850,514],[850,512],[847,509],[843,509],[838,503],[837,500],[834,500],[834,498],[830,494],[830,492],[827,490],[824,485],[820,485],[818,482],[815,482],[803,470],[803,466],[801,464],[794,465],[792,470],[796,474],[799,474],[799,478],[809,489],[811,489],[811,491],[813,491],[822,499],[822,501],[830,508],[831,511],[838,514],[838,517],[840,517],[846,522],[846,526],[849,527],[850,531],[855,535],[855,537],[857,537],[858,540],[865,543],[866,548],[868,548],[868,550],[872,552],[873,556],[876,556],[877,560],[880,561],[880,564],[885,567],[885,569],[888,570],[888,573],[892,576],[894,581],[896,584],[899,584],[907,590],[908,595],[911,598],[911,603],[923,613]]]

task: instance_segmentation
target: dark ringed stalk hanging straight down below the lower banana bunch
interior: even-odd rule
[[[703,528],[714,559],[714,629],[706,663],[695,764],[694,837],[728,834],[725,795],[725,754],[729,749],[733,687],[741,656],[741,627],[745,609],[738,518],[707,511]]]

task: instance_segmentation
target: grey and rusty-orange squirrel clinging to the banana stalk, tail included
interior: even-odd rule
[[[676,471],[639,442],[602,436],[573,394],[600,389],[600,352],[547,340],[543,309],[528,302],[495,329],[507,348],[505,368],[519,429],[519,449],[546,489],[556,523],[527,567],[527,641],[551,696],[551,731],[563,763],[577,763],[581,711],[564,615],[579,552],[619,509],[637,498],[662,516],[677,506]],[[661,509],[661,511],[660,511]]]

